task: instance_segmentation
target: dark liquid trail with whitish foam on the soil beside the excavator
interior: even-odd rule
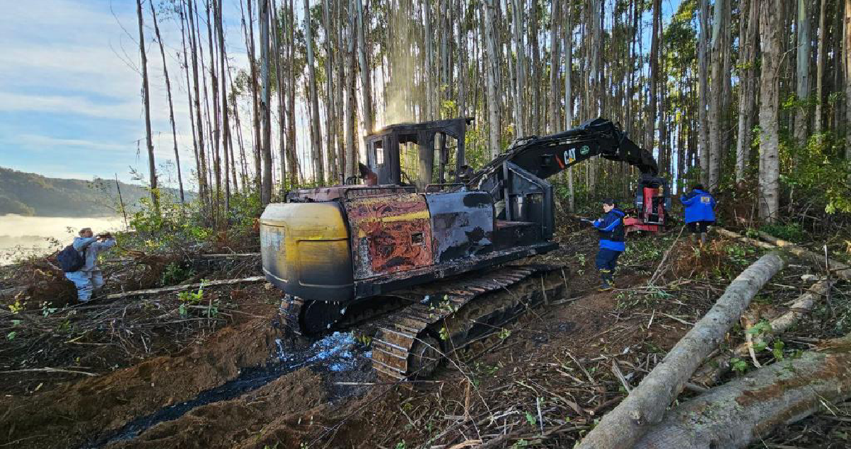
[[[238,378],[203,391],[190,401],[163,407],[151,415],[136,418],[117,432],[84,444],[80,449],[98,449],[115,441],[132,440],[158,423],[180,418],[199,406],[237,398],[302,367],[316,367],[340,375],[363,366],[364,361],[368,361],[368,355],[371,355],[371,351],[366,352],[363,345],[355,341],[351,332],[334,332],[313,342],[306,350],[288,349],[280,339],[275,343],[277,352],[266,367],[244,369]]]

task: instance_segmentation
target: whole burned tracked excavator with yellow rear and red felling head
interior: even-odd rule
[[[285,293],[288,328],[318,334],[374,321],[379,378],[427,377],[441,355],[563,294],[561,267],[517,261],[557,248],[546,179],[593,156],[637,167],[643,215],[633,225],[664,224],[665,180],[613,122],[517,139],[465,176],[470,121],[383,128],[365,138],[379,185],[293,190],[266,207],[263,270]]]

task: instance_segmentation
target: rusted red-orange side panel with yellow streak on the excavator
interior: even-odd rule
[[[356,279],[433,264],[431,223],[422,196],[357,198],[345,206]]]

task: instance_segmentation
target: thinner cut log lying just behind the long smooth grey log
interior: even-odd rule
[[[754,344],[769,344],[775,335],[786,332],[803,315],[806,315],[809,310],[813,309],[814,304],[827,293],[827,290],[831,288],[834,282],[823,279],[814,283],[806,292],[795,299],[789,311],[768,322],[771,328],[757,335],[754,338]],[[732,352],[725,352],[712,357],[694,374],[692,381],[695,384],[716,384],[721,376],[729,371],[730,360],[733,357],[746,357],[749,351],[748,344],[743,343],[737,346]]]

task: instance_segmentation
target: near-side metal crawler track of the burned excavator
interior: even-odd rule
[[[505,266],[397,292],[415,301],[380,319],[373,368],[380,381],[427,378],[444,355],[494,332],[546,298],[565,294],[561,266]]]

